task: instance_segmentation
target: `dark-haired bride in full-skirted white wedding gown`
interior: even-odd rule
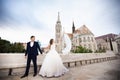
[[[68,69],[63,65],[60,55],[55,50],[54,39],[50,40],[48,48],[49,52],[45,56],[39,75],[45,77],[61,76],[67,72]]]

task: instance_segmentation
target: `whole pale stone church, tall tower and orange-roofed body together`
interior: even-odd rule
[[[75,29],[73,22],[72,33],[67,33],[72,42],[72,50],[75,50],[77,46],[83,46],[87,49],[95,52],[97,50],[97,44],[94,38],[94,34],[86,27],[86,25],[81,26],[78,29]],[[58,13],[58,20],[55,26],[55,42],[56,42],[56,51],[62,53],[63,44],[63,32],[62,25],[60,21],[60,15]]]

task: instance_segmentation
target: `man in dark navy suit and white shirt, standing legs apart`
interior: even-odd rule
[[[27,43],[27,48],[26,48],[26,53],[25,53],[25,57],[27,56],[26,71],[25,71],[25,74],[23,76],[21,76],[21,78],[28,76],[31,60],[33,61],[33,65],[34,65],[34,75],[33,76],[37,75],[38,50],[42,54],[42,51],[40,49],[38,42],[35,42],[35,36],[31,36],[30,39],[31,39],[31,41]]]

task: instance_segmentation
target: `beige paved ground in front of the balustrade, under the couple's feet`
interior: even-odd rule
[[[30,74],[27,78],[20,76],[0,77],[0,80],[120,80],[120,59],[102,63],[69,68],[69,72],[58,78],[45,78]]]

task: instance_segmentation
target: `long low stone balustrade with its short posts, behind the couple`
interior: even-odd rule
[[[41,66],[46,54],[38,55],[38,67]],[[77,65],[87,65],[108,60],[116,59],[116,55],[113,52],[107,53],[69,53],[66,55],[60,54],[63,63],[66,67],[72,67]],[[8,70],[8,75],[12,75],[14,69],[25,68],[26,60],[24,54],[0,54],[0,72]],[[31,63],[32,64],[32,63]]]

